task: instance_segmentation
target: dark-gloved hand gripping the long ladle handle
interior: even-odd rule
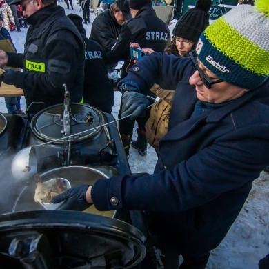
[[[121,101],[121,117],[126,117],[132,114],[130,119],[137,119],[137,117],[141,116],[149,103],[146,96],[138,92],[125,92]]]

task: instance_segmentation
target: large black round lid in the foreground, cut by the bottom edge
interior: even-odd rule
[[[0,268],[132,268],[146,253],[128,223],[83,212],[29,211],[0,215]]]

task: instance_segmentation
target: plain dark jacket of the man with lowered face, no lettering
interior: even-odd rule
[[[109,52],[120,33],[121,26],[117,23],[113,12],[106,10],[94,19],[90,39],[99,43],[105,52]]]

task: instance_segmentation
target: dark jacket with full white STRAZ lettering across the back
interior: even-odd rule
[[[126,22],[112,50],[106,54],[108,63],[124,61],[123,77],[130,62],[130,43],[139,43],[140,48],[152,48],[161,52],[170,40],[166,23],[159,19],[152,6],[144,6],[135,18]]]

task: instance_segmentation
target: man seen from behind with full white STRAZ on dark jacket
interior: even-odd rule
[[[121,30],[121,34],[114,44],[112,50],[106,54],[109,63],[115,63],[123,60],[122,77],[126,77],[129,66],[132,66],[133,60],[130,57],[130,43],[139,43],[141,48],[152,48],[155,52],[161,52],[170,40],[170,32],[166,23],[159,19],[152,8],[151,0],[130,0],[129,1],[132,19],[127,21]],[[148,95],[156,97],[152,92]],[[145,135],[145,124],[150,115],[150,109],[147,110],[145,117],[139,117],[138,123],[138,139],[139,154],[145,156],[147,141]],[[121,118],[121,108],[119,110],[119,118]],[[130,142],[132,140],[132,131],[135,127],[135,121],[124,119],[119,121],[119,132],[123,142],[126,155],[129,155]]]

